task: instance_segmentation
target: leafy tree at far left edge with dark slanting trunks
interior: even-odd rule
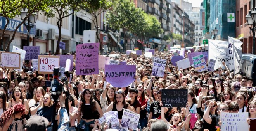
[[[16,29],[14,30],[14,32],[12,34],[12,38],[9,40],[7,47],[5,48],[5,51],[7,51],[9,49],[10,44],[11,44],[12,40],[14,39],[15,34],[16,34],[17,30],[19,29],[19,27],[26,22],[27,18],[30,15],[32,15],[32,13],[38,12],[41,10],[45,11],[45,12],[50,12],[50,10],[47,6],[48,3],[49,3],[48,0],[1,0],[0,1],[0,5],[1,5],[0,16],[4,16],[6,18],[6,24],[5,24],[5,27],[3,29],[3,34],[0,37],[0,39],[2,39],[3,36],[5,35],[5,30],[9,24],[9,18],[14,18],[17,15],[20,15],[22,8],[28,9],[28,13],[27,13],[26,17],[24,18],[24,20],[22,20],[22,22],[16,26]]]

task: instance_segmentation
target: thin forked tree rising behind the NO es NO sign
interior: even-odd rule
[[[49,7],[52,9],[51,13],[44,12],[47,17],[57,18],[57,26],[59,30],[59,37],[57,40],[57,47],[55,54],[59,54],[60,48],[59,43],[61,41],[61,27],[62,20],[70,15],[74,14],[75,11],[80,9],[80,5],[83,5],[86,0],[50,0]]]

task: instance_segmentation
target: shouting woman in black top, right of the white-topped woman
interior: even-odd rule
[[[52,112],[53,112],[53,101],[51,99],[50,94],[45,94],[43,96],[43,103],[40,108],[38,108],[36,114],[38,116],[43,116],[45,117],[48,121],[49,124],[47,125],[47,130],[51,131],[51,124],[52,124]]]

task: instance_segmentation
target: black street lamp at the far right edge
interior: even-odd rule
[[[249,10],[249,13],[246,15],[246,21],[247,25],[250,28],[250,30],[253,32],[253,54],[255,54],[255,18],[256,18],[256,7],[253,10],[253,13],[251,13],[251,10]]]

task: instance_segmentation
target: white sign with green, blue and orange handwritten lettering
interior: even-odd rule
[[[192,57],[195,70],[198,72],[205,71],[207,69],[206,62],[204,60],[204,54]]]

